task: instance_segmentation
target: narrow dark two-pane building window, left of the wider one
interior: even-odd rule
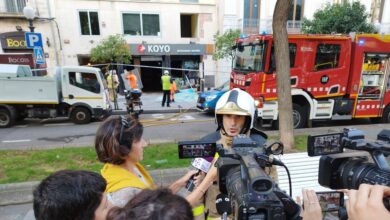
[[[96,11],[80,11],[79,17],[82,35],[100,35],[99,15]]]

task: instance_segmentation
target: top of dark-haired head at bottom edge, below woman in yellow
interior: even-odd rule
[[[143,190],[125,207],[112,208],[107,220],[192,220],[190,204],[169,189]]]

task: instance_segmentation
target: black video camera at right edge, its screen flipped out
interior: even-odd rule
[[[362,183],[390,186],[390,130],[382,130],[376,141],[364,133],[345,128],[342,133],[308,137],[309,156],[321,156],[318,182],[331,189],[358,189]],[[344,151],[344,148],[350,151]],[[373,160],[373,162],[371,162]]]

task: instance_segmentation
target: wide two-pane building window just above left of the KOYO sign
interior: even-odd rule
[[[123,34],[160,36],[160,15],[123,13]]]

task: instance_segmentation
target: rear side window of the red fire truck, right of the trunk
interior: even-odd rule
[[[339,44],[319,44],[317,46],[314,70],[319,71],[338,67],[340,49],[341,46]]]

